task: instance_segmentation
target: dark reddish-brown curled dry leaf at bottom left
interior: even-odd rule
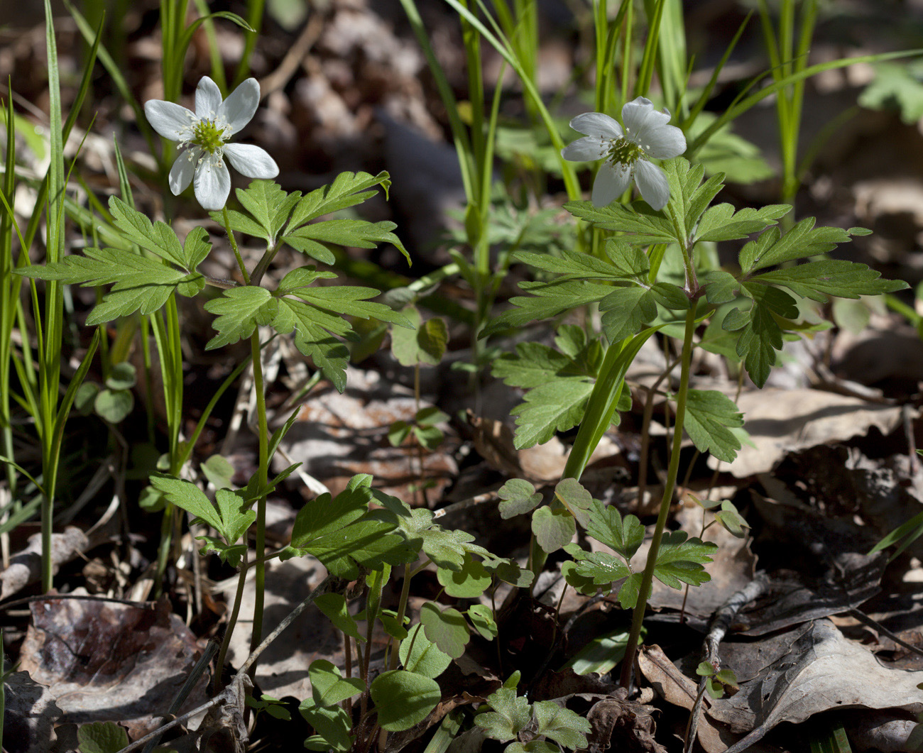
[[[20,667],[57,699],[66,722],[124,724],[134,738],[160,722],[198,660],[192,631],[170,603],[82,599],[31,604]],[[181,713],[205,699],[203,675]]]

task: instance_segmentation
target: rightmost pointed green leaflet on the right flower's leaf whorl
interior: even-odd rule
[[[881,273],[852,261],[825,260],[775,269],[750,278],[753,282],[781,285],[792,293],[826,303],[827,296],[858,298],[893,293],[908,287],[903,280],[881,280]]]

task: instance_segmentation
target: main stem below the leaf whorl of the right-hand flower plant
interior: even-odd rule
[[[664,496],[660,500],[660,513],[657,515],[657,524],[653,529],[651,549],[644,565],[641,576],[641,590],[638,594],[638,604],[635,605],[634,614],[631,616],[631,632],[629,643],[625,648],[625,658],[622,660],[621,686],[631,685],[631,673],[634,669],[635,654],[638,651],[638,639],[641,638],[641,624],[644,622],[644,610],[653,583],[653,568],[657,564],[657,553],[660,551],[660,542],[664,537],[666,517],[670,511],[670,502],[673,500],[673,490],[677,484],[679,471],[679,450],[683,443],[683,423],[686,418],[686,399],[689,395],[689,364],[692,360],[692,336],[695,332],[696,302],[689,306],[686,315],[686,331],[683,335],[683,351],[680,356],[679,392],[677,393],[677,421],[673,428],[673,448],[670,450],[670,464],[666,471]]]

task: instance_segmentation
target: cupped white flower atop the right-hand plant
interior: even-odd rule
[[[647,158],[678,157],[686,151],[686,137],[676,125],[666,125],[669,113],[658,113],[653,102],[644,97],[625,103],[622,122],[624,133],[622,126],[608,115],[577,115],[570,127],[586,136],[561,149],[561,156],[576,162],[605,159],[593,183],[593,206],[605,207],[621,196],[633,175],[641,197],[653,209],[664,209],[670,186],[664,171]]]

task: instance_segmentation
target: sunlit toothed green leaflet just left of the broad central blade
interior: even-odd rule
[[[513,446],[522,449],[545,444],[556,432],[580,424],[591,392],[593,382],[582,377],[556,379],[530,389],[525,401],[511,411],[517,427]]]

